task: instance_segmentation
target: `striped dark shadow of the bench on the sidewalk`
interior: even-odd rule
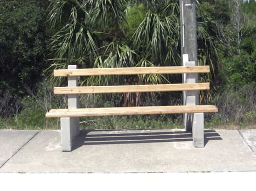
[[[138,131],[138,133],[136,132]],[[106,133],[110,132],[110,133]],[[222,140],[215,130],[204,130],[204,145],[211,140]],[[154,142],[180,142],[193,141],[192,133],[184,130],[168,132],[141,132],[133,130],[133,133],[127,133],[127,130],[102,129],[102,130],[81,130],[79,135],[73,139],[73,149],[84,145],[109,145],[109,144],[140,144]]]

